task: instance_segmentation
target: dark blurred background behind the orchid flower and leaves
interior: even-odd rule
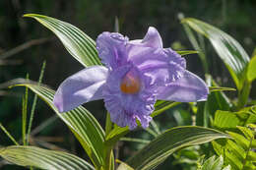
[[[256,1],[254,0],[1,0],[0,1],[0,84],[16,78],[37,81],[43,61],[46,68],[43,84],[56,89],[60,83],[72,74],[83,69],[65,50],[61,42],[47,28],[32,19],[23,18],[27,13],[50,16],[70,23],[84,30],[93,39],[102,31],[113,31],[115,17],[119,20],[122,34],[130,39],[142,38],[150,26],[158,28],[164,47],[175,50],[193,50],[188,37],[180,24],[180,17],[192,17],[209,23],[234,37],[251,56],[256,47]],[[223,62],[217,56],[212,45],[205,39],[210,73],[220,85],[234,87]],[[204,70],[197,54],[185,56],[188,70],[204,78]],[[1,85],[0,85],[1,86]],[[255,99],[256,89],[252,88]],[[22,135],[22,96],[24,87],[0,88],[0,123],[11,132],[17,141]],[[228,95],[234,95],[232,92]],[[29,110],[33,94],[30,92]],[[91,102],[86,107],[92,111],[104,126],[105,110],[102,101]],[[191,111],[187,105],[181,105],[166,111],[156,119],[160,130],[177,125],[191,125]],[[179,117],[183,117],[180,121]],[[32,144],[51,149],[65,149],[83,158],[87,158],[83,148],[63,122],[54,117],[54,113],[43,101],[38,101],[35,109],[32,130],[42,125],[41,131],[33,131]],[[39,129],[40,130],[40,129]],[[151,139],[141,131],[133,136]],[[13,144],[0,131],[0,145]],[[116,155],[125,160],[144,145],[143,142],[119,142]],[[196,149],[196,148],[193,148]],[[173,156],[159,169],[179,169],[180,164],[173,163]],[[5,165],[0,159],[0,169],[23,169]]]

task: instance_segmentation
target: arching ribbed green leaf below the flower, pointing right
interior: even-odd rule
[[[169,129],[139,150],[126,163],[136,170],[153,169],[180,148],[223,138],[228,138],[228,136],[203,127],[187,126]]]

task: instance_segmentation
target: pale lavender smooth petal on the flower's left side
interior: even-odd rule
[[[57,89],[53,103],[59,112],[97,99],[102,99],[102,88],[108,75],[107,68],[93,66],[67,78]]]

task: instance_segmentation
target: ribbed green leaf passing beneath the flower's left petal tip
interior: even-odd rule
[[[96,118],[83,106],[65,113],[59,113],[52,103],[54,90],[36,84],[23,84],[28,86],[42,100],[44,100],[51,109],[61,118],[70,128],[78,141],[83,145],[89,157],[96,167],[104,164],[104,132],[96,121]]]

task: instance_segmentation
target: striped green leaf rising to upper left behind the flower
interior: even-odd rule
[[[100,65],[96,42],[81,29],[47,16],[26,14],[24,17],[31,17],[53,31],[67,51],[85,67]]]

